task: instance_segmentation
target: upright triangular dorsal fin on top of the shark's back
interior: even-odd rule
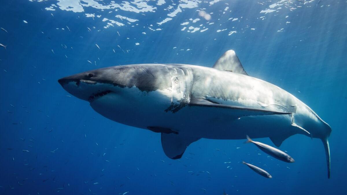
[[[248,75],[234,50],[226,51],[213,65],[213,68]]]

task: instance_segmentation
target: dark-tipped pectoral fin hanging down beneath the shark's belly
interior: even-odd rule
[[[170,159],[180,159],[186,151],[189,144],[197,141],[200,138],[196,137],[183,137],[178,134],[161,134],[161,146],[163,147],[164,153]]]

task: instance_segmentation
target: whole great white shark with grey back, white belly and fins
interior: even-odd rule
[[[330,178],[331,127],[294,95],[249,76],[233,50],[212,68],[135,64],[58,80],[102,116],[161,133],[164,153],[179,159],[200,138],[269,137],[279,147],[295,134],[322,140]]]

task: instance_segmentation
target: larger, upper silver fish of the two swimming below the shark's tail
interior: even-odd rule
[[[247,141],[245,143],[252,142],[255,144],[257,147],[259,147],[260,150],[265,152],[266,154],[269,154],[273,156],[274,158],[284,161],[284,162],[295,162],[293,158],[291,158],[287,153],[278,150],[277,148],[274,148],[272,146],[260,143],[260,142],[255,142],[251,138],[248,137],[247,135]]]

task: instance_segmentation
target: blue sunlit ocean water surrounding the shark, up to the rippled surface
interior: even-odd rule
[[[346,0],[3,0],[0,13],[0,194],[346,194]],[[171,160],[159,133],[57,82],[137,63],[212,67],[229,49],[332,127],[330,179],[321,141],[304,135],[279,148],[295,163],[244,139],[200,139]]]

